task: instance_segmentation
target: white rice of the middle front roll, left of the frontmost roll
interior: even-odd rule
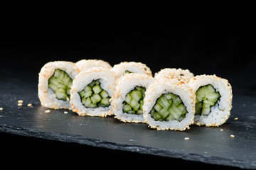
[[[111,102],[112,110],[115,115],[114,118],[128,123],[144,123],[145,120],[143,115],[123,113],[122,103],[129,91],[134,89],[136,86],[142,86],[148,89],[149,84],[153,81],[153,77],[141,73],[124,74],[119,77],[114,86],[114,93]]]

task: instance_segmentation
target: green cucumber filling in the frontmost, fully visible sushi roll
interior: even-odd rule
[[[175,94],[162,94],[157,98],[154,107],[150,111],[151,118],[159,121],[178,120],[186,118],[186,106],[179,96]]]

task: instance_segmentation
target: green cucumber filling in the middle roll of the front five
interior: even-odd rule
[[[123,107],[123,113],[128,114],[143,114],[143,99],[145,97],[146,88],[142,86],[136,86],[134,89],[129,91],[129,93],[125,96]]]

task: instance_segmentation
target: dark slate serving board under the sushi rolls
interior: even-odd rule
[[[112,116],[80,117],[72,111],[52,109],[45,113],[48,108],[41,106],[37,96],[37,74],[8,70],[0,73],[0,132],[256,169],[253,96],[234,95],[231,116],[218,128],[191,125],[184,132],[157,131],[144,123],[122,123]],[[19,99],[23,106],[17,106]],[[28,107],[28,103],[33,107]]]

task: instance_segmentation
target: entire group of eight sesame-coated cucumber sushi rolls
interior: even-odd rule
[[[39,73],[41,105],[80,116],[114,115],[156,130],[186,130],[192,124],[219,126],[232,108],[232,87],[215,75],[165,68],[152,76],[141,62],[113,67],[103,60],[48,62]]]

